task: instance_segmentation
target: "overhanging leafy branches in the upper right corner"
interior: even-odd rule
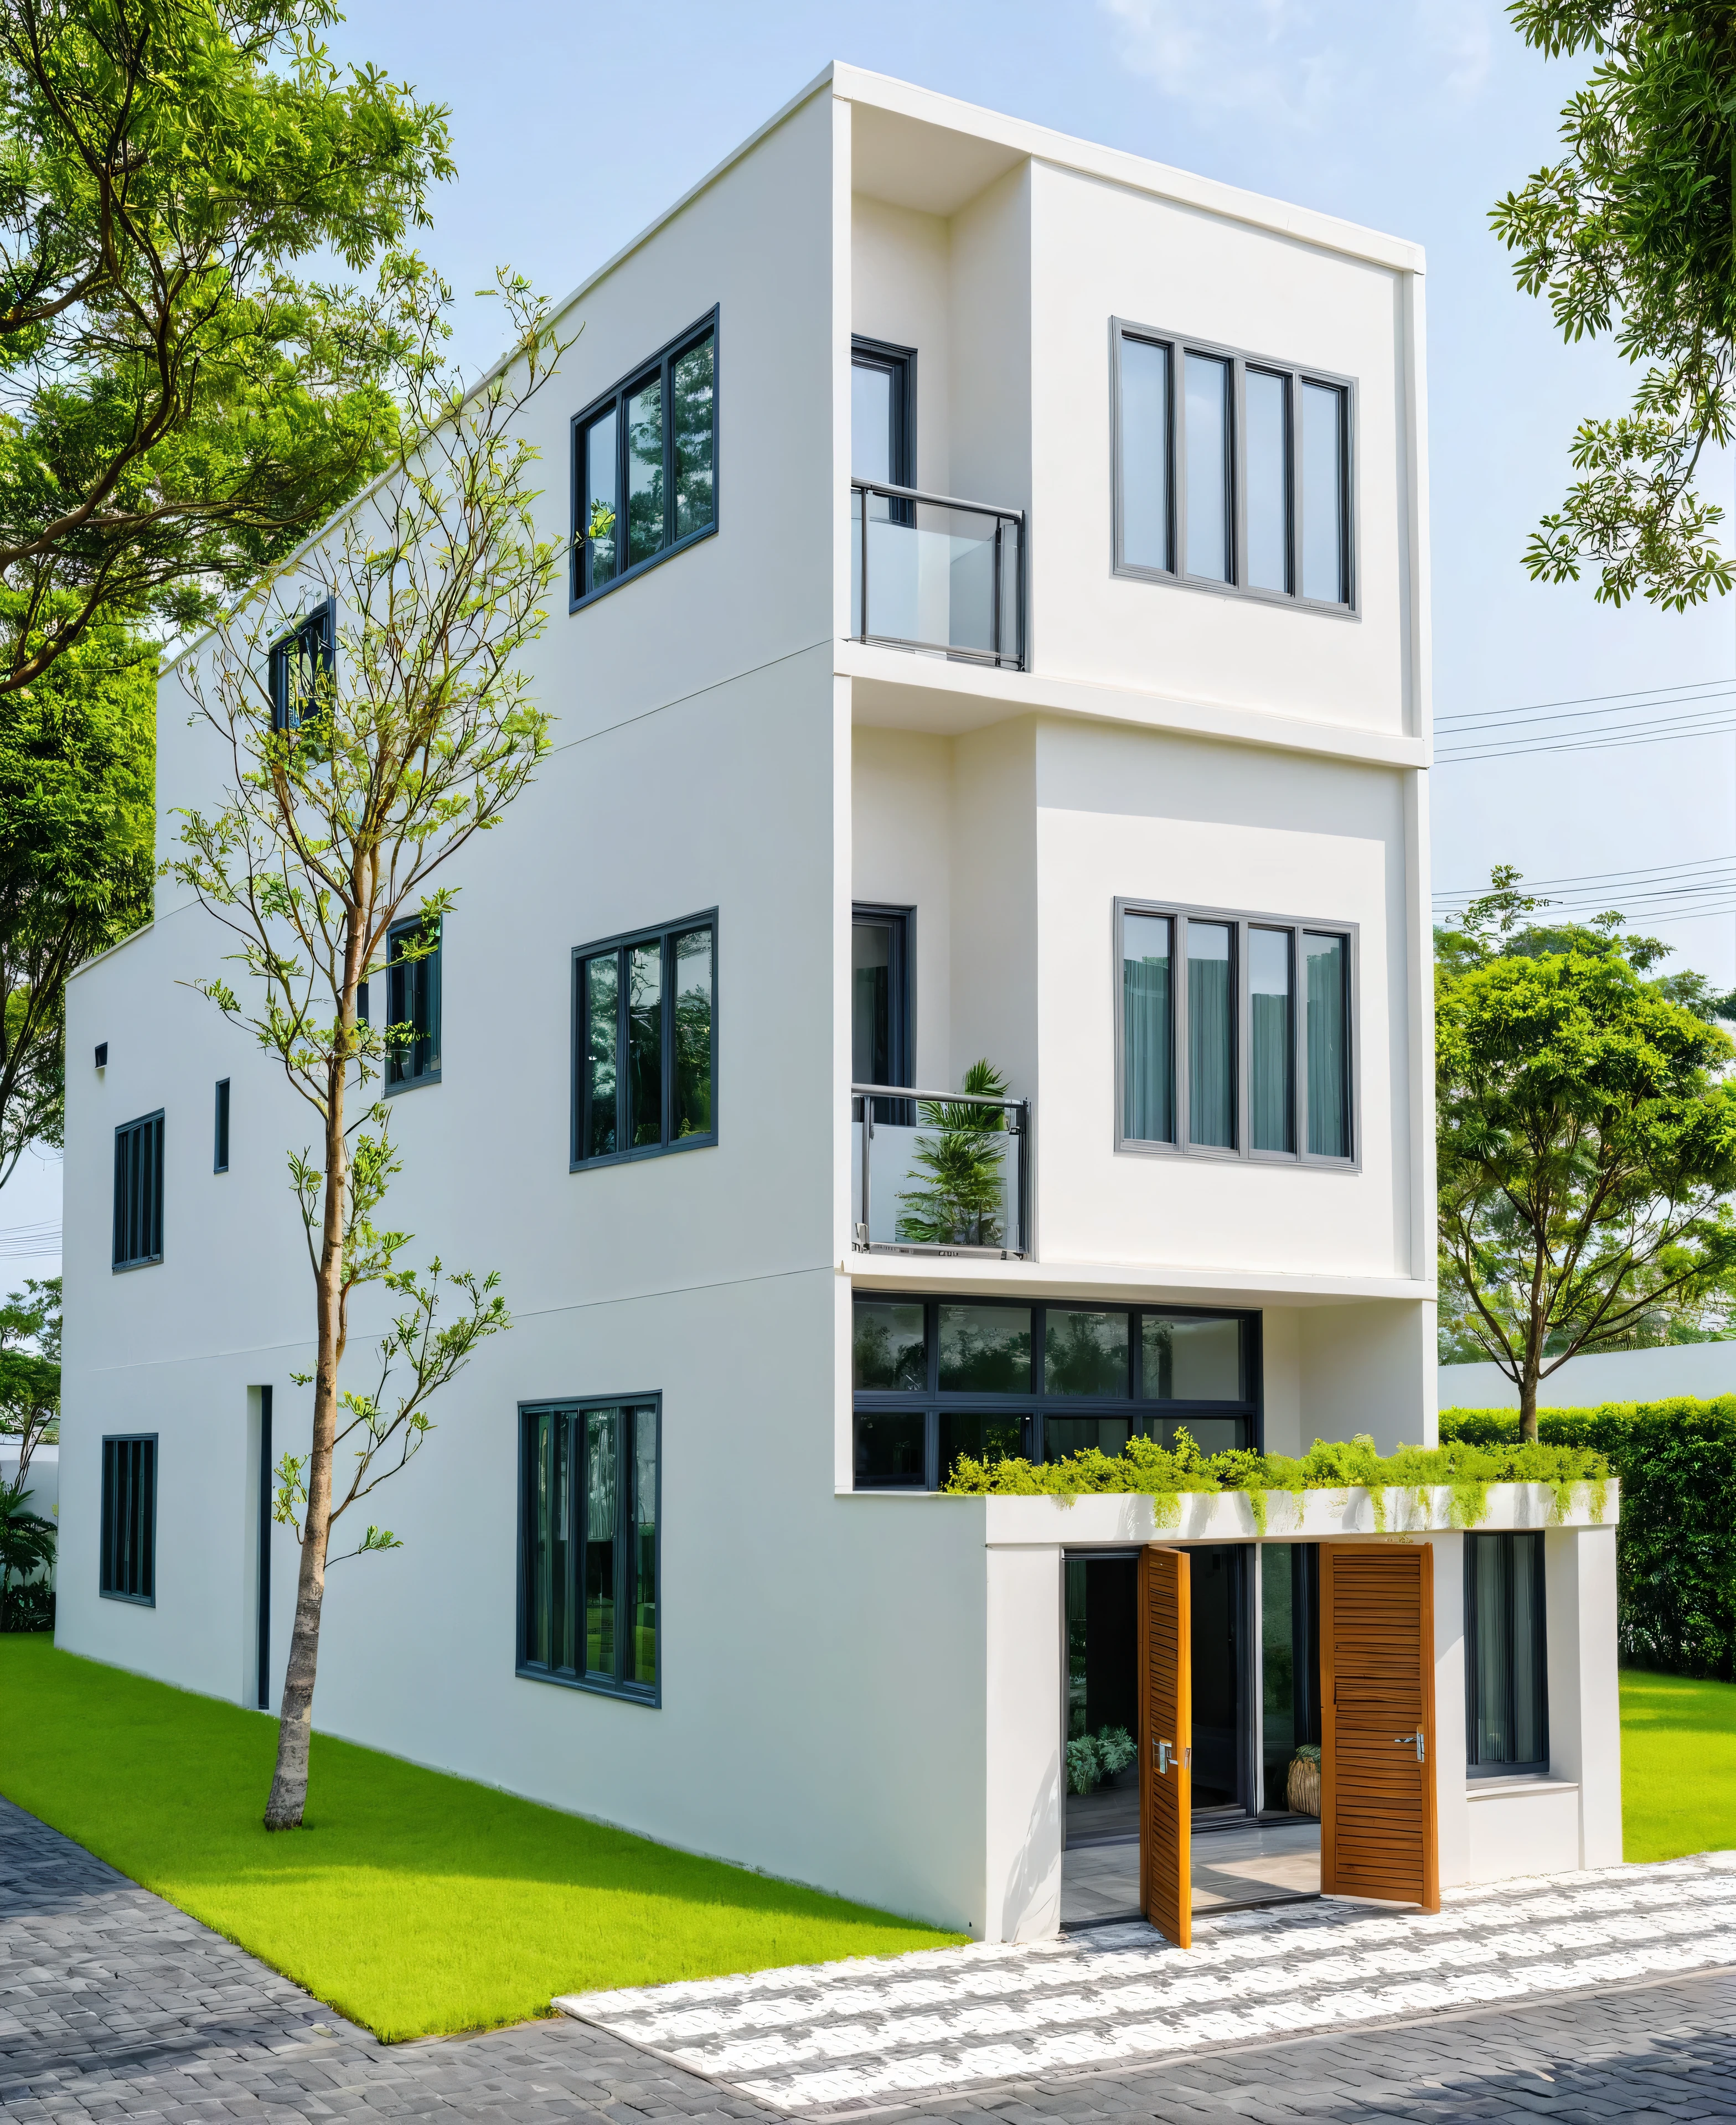
[[[1696,491],[1736,412],[1736,36],[1730,0],[1513,0],[1545,57],[1596,53],[1560,162],[1492,210],[1528,295],[1566,340],[1615,334],[1647,363],[1632,410],[1583,421],[1583,474],[1526,548],[1532,578],[1683,612],[1732,584],[1723,510]]]

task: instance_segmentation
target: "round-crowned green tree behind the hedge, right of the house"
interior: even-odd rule
[[[1436,965],[1441,1318],[1517,1386],[1536,1439],[1538,1381],[1568,1358],[1728,1290],[1736,1043],[1643,978],[1619,916],[1589,950],[1504,950],[1545,905],[1515,884],[1496,873],[1502,910],[1473,903]]]

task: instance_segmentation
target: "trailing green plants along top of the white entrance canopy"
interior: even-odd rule
[[[1300,1522],[1303,1494],[1309,1490],[1366,1490],[1375,1509],[1375,1526],[1385,1532],[1396,1526],[1428,1526],[1430,1492],[1447,1490],[1447,1522],[1453,1528],[1475,1528],[1490,1509],[1492,1483],[1543,1483],[1549,1488],[1551,1515],[1562,1519],[1581,1494],[1594,1519],[1609,1504],[1609,1460],[1579,1445],[1538,1443],[1473,1443],[1453,1441],[1441,1447],[1398,1447],[1377,1454],[1375,1441],[1360,1432],[1349,1441],[1315,1439],[1300,1460],[1286,1454],[1201,1454],[1186,1428],[1177,1430],[1173,1447],[1154,1439],[1128,1439],[1120,1454],[1088,1447],[1054,1462],[971,1460],[954,1462],[946,1490],[958,1496],[997,1498],[1084,1498],[1090,1494],[1133,1494],[1152,1500],[1160,1528],[1181,1519],[1186,1496],[1241,1492],[1254,1513],[1260,1534],[1269,1526],[1271,1496],[1281,1492],[1296,1500],[1292,1519]]]

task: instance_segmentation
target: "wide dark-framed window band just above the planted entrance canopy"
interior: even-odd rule
[[[1260,1315],[858,1292],[854,1488],[937,1490],[960,1454],[1060,1460],[1130,1436],[1258,1447]]]

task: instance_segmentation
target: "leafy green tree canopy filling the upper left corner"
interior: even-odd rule
[[[427,221],[446,113],[331,0],[0,0],[0,695],[187,625],[382,461],[389,317],[302,283]]]

